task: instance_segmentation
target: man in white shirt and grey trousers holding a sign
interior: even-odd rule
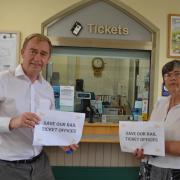
[[[53,180],[46,154],[33,146],[33,128],[42,105],[54,108],[50,84],[41,76],[51,56],[51,42],[41,34],[31,34],[22,46],[23,58],[15,70],[0,73],[0,179]],[[76,150],[77,146],[64,147]]]

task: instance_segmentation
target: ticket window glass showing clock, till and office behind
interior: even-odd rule
[[[52,86],[75,87],[74,111],[87,119],[133,120],[143,101],[148,114],[150,51],[54,47],[45,73]]]

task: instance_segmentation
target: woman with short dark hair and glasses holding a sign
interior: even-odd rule
[[[147,157],[142,163],[142,180],[180,180],[180,60],[173,60],[162,68],[162,77],[169,96],[156,103],[150,120],[165,123],[164,157]],[[134,155],[144,158],[143,149],[136,149]]]

